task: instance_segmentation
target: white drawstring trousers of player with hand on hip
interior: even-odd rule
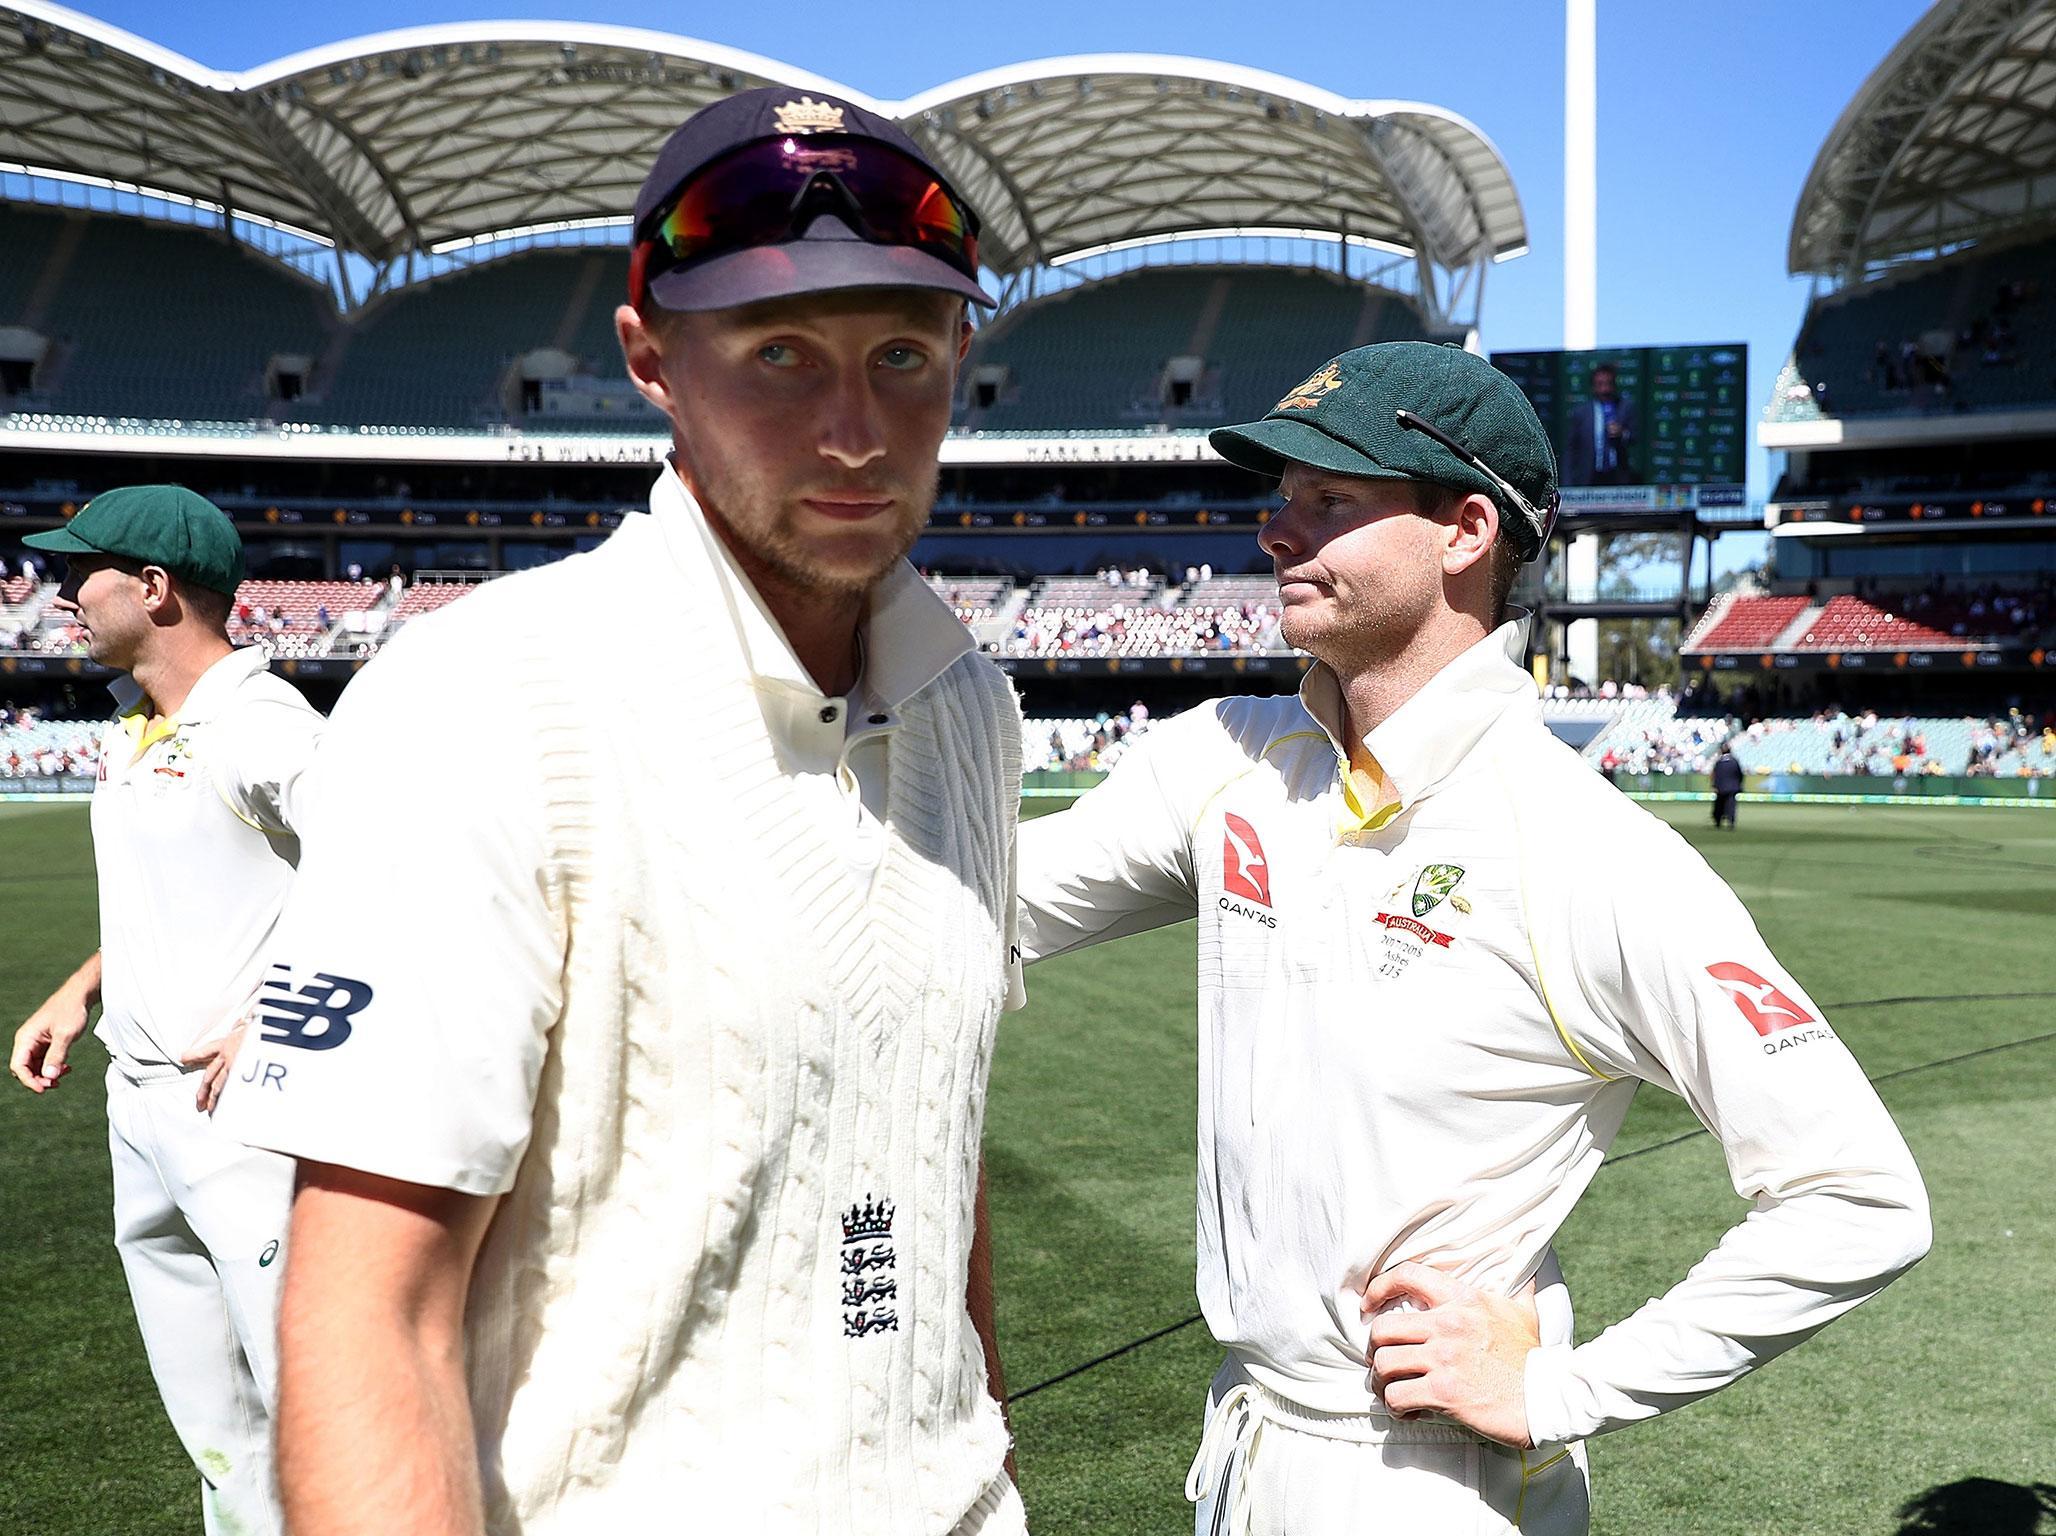
[[[1197,1536],[1585,1536],[1585,1448],[1517,1452],[1452,1423],[1301,1409],[1229,1355],[1184,1495]]]

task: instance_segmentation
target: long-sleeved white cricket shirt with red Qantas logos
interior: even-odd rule
[[[1022,827],[1030,960],[1199,915],[1199,1300],[1273,1392],[1369,1402],[1363,1283],[1421,1260],[1513,1291],[1637,1082],[1721,1139],[1750,1215],[1665,1297],[1538,1349],[1538,1443],[1723,1386],[1926,1248],[1906,1143],[1820,1008],[1692,847],[1542,724],[1523,621],[1363,746],[1345,711],[1221,699]]]

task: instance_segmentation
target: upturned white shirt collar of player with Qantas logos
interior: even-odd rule
[[[1499,629],[1449,660],[1419,693],[1363,738],[1400,808],[1412,806],[1447,779],[1486,730],[1515,703],[1536,699],[1521,658],[1530,615],[1515,613]],[[1347,761],[1343,687],[1326,662],[1314,662],[1299,683],[1299,703]]]

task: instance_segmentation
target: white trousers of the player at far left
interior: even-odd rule
[[[280,1536],[271,1470],[278,1289],[292,1158],[193,1106],[197,1073],[107,1069],[115,1248],[171,1427],[199,1472],[208,1536]]]

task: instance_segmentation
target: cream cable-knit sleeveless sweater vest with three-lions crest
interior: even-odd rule
[[[633,586],[629,545],[598,559]],[[502,658],[570,946],[471,1291],[473,1411],[483,1437],[504,1417],[508,1468],[487,1524],[948,1532],[1005,1454],[964,1281],[1018,709],[975,656],[905,703],[866,899],[787,812],[732,631],[666,617],[660,716],[561,635]]]

